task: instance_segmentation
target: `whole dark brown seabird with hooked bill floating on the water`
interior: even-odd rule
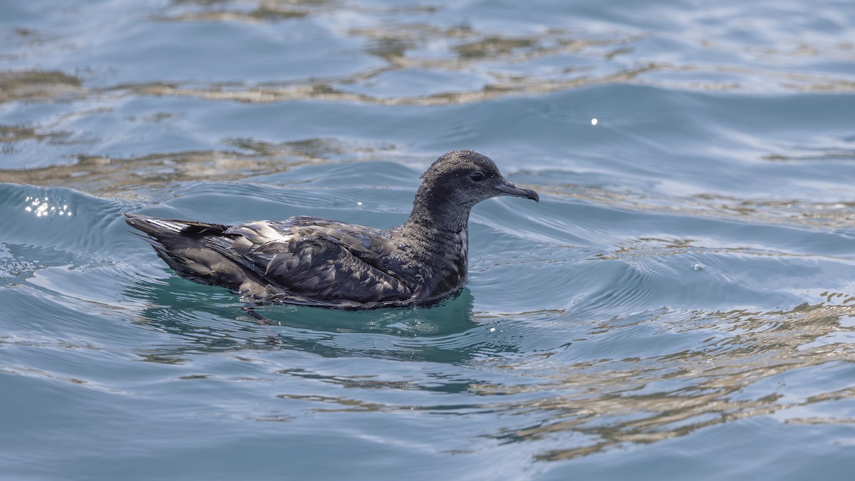
[[[409,306],[456,293],[467,279],[469,211],[514,186],[489,157],[451,151],[422,175],[410,218],[372,229],[317,217],[233,226],[126,213],[180,276],[259,301],[307,306]]]

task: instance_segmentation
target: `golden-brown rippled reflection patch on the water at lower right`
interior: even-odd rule
[[[851,343],[820,341],[840,332],[855,332],[852,323],[842,322],[855,314],[851,301],[849,297],[844,303],[805,304],[780,312],[696,312],[693,319],[686,319],[694,329],[702,322],[715,324],[727,334],[714,336],[698,349],[648,359],[545,363],[542,369],[551,371],[548,377],[554,380],[538,389],[563,394],[497,408],[528,413],[541,421],[504,430],[496,438],[526,442],[557,439],[569,432],[585,435],[581,439],[587,442],[538,455],[542,460],[571,459],[624,443],[687,436],[736,419],[852,399],[855,388],[846,379],[834,383],[836,386],[812,386],[813,394],[797,400],[787,399],[785,384],[768,382],[788,372],[855,360]],[[474,392],[489,398],[529,389],[489,384],[473,387]]]

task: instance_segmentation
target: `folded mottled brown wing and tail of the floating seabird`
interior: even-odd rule
[[[410,288],[382,263],[381,231],[312,217],[233,227],[129,217],[181,276],[304,304],[396,303]]]

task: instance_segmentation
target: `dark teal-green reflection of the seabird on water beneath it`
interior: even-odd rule
[[[459,337],[470,330],[489,331],[486,324],[475,322],[475,300],[468,288],[432,306],[367,311],[246,305],[224,289],[177,277],[138,285],[134,294],[150,302],[139,324],[174,336],[156,352],[146,350],[145,359],[158,362],[245,349],[460,362],[473,352],[461,346]]]

